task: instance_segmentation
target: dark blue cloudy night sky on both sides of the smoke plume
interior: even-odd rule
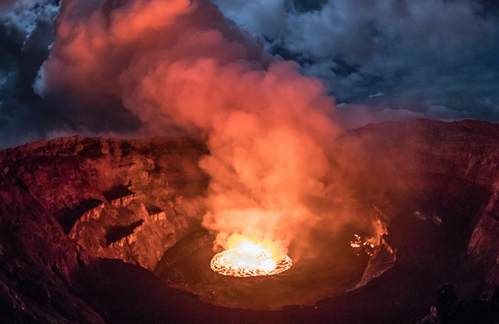
[[[88,19],[96,7],[100,12],[113,12],[124,2],[140,1],[61,2],[68,12],[75,3],[80,6],[64,18],[74,22]],[[230,29],[224,34],[229,35],[228,39],[234,41],[237,37],[230,35],[241,28],[240,33],[245,36],[238,37],[244,38],[242,43],[248,53],[256,51],[252,46],[261,46],[275,56],[255,54],[259,58],[250,57],[250,61],[260,60],[261,68],[265,68],[268,60],[293,60],[302,74],[322,80],[327,93],[336,101],[336,112],[331,118],[345,128],[407,118],[499,123],[497,0],[213,2],[233,20],[222,23],[220,18],[213,18],[224,24],[222,29]],[[145,119],[126,108],[123,90],[106,88],[101,91],[105,96],[100,96],[101,92],[96,95],[95,91],[85,90],[88,84],[83,83],[87,79],[71,79],[79,75],[71,73],[66,77],[64,69],[57,70],[56,75],[66,86],[54,86],[57,78],[46,71],[54,71],[57,60],[63,61],[66,69],[81,65],[72,61],[71,51],[62,50],[65,45],[71,46],[67,39],[49,50],[59,10],[59,1],[55,0],[0,2],[0,149],[75,134],[157,134],[156,128],[139,132]],[[202,17],[208,20],[211,16],[217,15],[210,11]],[[174,31],[173,26],[169,28]],[[40,69],[49,54],[56,59]],[[105,61],[106,57],[102,59]],[[112,62],[95,68],[107,69]],[[67,86],[80,81],[83,85],[77,91],[76,86]],[[120,78],[106,82],[102,84],[118,83]],[[178,132],[175,124],[165,122],[164,128]]]

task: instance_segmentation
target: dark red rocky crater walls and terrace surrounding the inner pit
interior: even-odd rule
[[[397,258],[380,250],[360,288],[273,312],[215,308],[146,270],[201,228],[202,143],[73,137],[1,151],[0,323],[410,322],[442,280],[472,297],[498,286],[498,125],[388,122],[342,142],[342,178],[388,215],[383,251]]]

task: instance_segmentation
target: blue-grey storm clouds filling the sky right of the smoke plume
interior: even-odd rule
[[[497,1],[215,2],[269,51],[325,80],[339,103],[373,116],[499,122]]]

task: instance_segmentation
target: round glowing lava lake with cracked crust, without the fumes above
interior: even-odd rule
[[[231,277],[272,276],[291,268],[292,261],[287,256],[275,262],[267,253],[258,255],[241,254],[237,249],[216,254],[210,267],[213,271]]]

